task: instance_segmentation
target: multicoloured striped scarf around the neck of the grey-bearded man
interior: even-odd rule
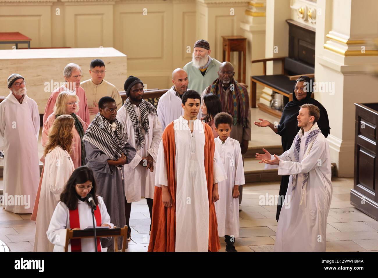
[[[206,94],[212,93],[220,98],[222,103],[222,111],[232,116],[232,125],[247,126],[247,116],[249,109],[248,92],[245,87],[240,85],[235,79],[232,79],[230,85],[231,94],[223,92],[222,82],[219,77],[207,88]]]

